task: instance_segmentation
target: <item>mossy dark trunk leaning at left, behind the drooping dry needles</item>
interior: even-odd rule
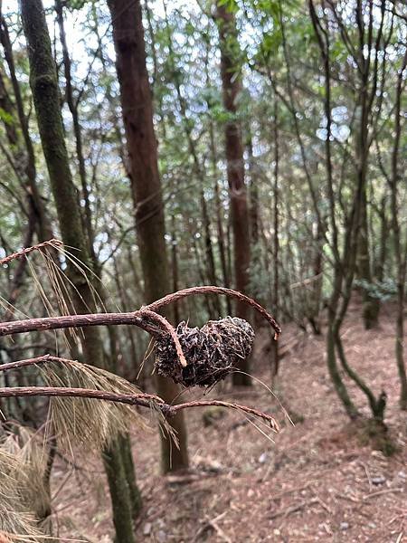
[[[42,0],[24,0],[21,3],[21,12],[30,61],[30,85],[62,240],[67,246],[75,247],[78,251],[76,256],[83,266],[91,267],[89,245],[82,229],[80,207],[63,137],[57,74]],[[67,274],[74,287],[72,289],[74,310],[77,313],[95,310],[90,283],[70,262]],[[84,329],[81,338],[87,363],[102,366],[103,348],[99,329],[93,327]],[[133,543],[131,504],[118,443],[113,443],[103,456],[118,541]]]

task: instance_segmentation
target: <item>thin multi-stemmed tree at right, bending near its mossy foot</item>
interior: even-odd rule
[[[368,141],[369,133],[358,132],[356,141],[356,156],[359,157],[356,166],[356,183],[352,186],[353,193],[349,204],[349,211],[346,216],[345,224],[343,225],[342,232],[344,233],[343,240],[339,239],[339,224],[337,221],[337,215],[335,211],[335,195],[337,199],[341,199],[340,194],[341,186],[336,193],[335,176],[332,160],[332,130],[333,130],[333,118],[332,118],[332,67],[331,67],[331,28],[328,23],[329,19],[325,12],[322,12],[320,17],[317,13],[316,5],[313,0],[308,1],[309,14],[317,37],[317,43],[321,53],[321,60],[324,73],[324,107],[327,118],[327,133],[325,137],[325,158],[326,158],[326,172],[327,172],[327,194],[329,197],[329,225],[331,228],[332,242],[331,250],[334,257],[334,275],[333,275],[333,288],[331,291],[330,300],[328,302],[328,322],[327,322],[327,367],[329,374],[332,378],[336,393],[345,406],[346,413],[350,418],[359,416],[359,412],[351,396],[348,394],[345,382],[340,375],[337,367],[336,357],[339,359],[345,374],[354,381],[355,385],[364,393],[370,406],[372,418],[375,421],[379,421],[379,429],[383,429],[383,416],[385,409],[385,394],[382,392],[377,397],[374,395],[373,390],[364,381],[364,378],[360,376],[353,367],[351,367],[347,361],[345,355],[345,348],[343,340],[341,338],[340,330],[345,319],[346,310],[349,306],[352,294],[352,286],[355,279],[355,272],[357,268],[357,256],[358,256],[358,243],[360,242],[360,228],[363,223],[364,214],[364,195],[366,188],[366,167],[368,150],[371,141]],[[363,24],[360,22],[359,4],[355,6],[355,20],[360,24],[359,33],[360,39],[363,41],[364,32],[362,31]],[[336,6],[331,5],[331,15],[335,17],[339,27],[343,28],[344,21],[341,20]],[[372,25],[372,5],[368,12],[369,25]],[[371,27],[370,27],[371,28]],[[372,28],[371,28],[372,30]],[[377,31],[376,46],[379,46],[381,35],[383,31],[383,13],[380,27]],[[369,33],[369,45],[372,45],[373,36]],[[370,51],[370,49],[369,49]],[[378,52],[375,52],[376,58]],[[369,52],[370,55],[370,52]],[[363,55],[361,55],[363,56]],[[359,59],[360,60],[360,59]],[[370,56],[368,57],[370,60]],[[357,59],[355,58],[357,65]],[[364,60],[360,60],[362,63],[362,73],[364,77],[367,77],[364,73],[366,63]],[[367,80],[366,80],[367,81]],[[366,83],[367,84],[367,83]],[[370,92],[367,95],[362,94],[360,100],[362,100],[361,111],[361,123],[367,123],[368,112],[371,108],[371,102],[374,100],[375,83],[373,89],[368,89]],[[369,102],[370,105],[367,104]],[[367,130],[367,126],[365,127]],[[310,186],[312,189],[312,186]],[[317,211],[317,209],[316,209]],[[318,214],[318,220],[320,226],[322,226],[320,214]]]

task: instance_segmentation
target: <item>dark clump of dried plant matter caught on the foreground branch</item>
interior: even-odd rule
[[[237,317],[210,320],[201,329],[191,329],[183,321],[176,335],[187,366],[181,366],[173,340],[163,336],[156,340],[155,369],[184,386],[211,386],[224,379],[250,355],[254,339],[251,325]]]

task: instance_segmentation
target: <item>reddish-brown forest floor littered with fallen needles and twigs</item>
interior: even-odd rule
[[[135,434],[137,481],[144,500],[137,540],[407,541],[407,417],[397,405],[391,306],[383,307],[380,328],[369,331],[354,307],[342,334],[352,366],[376,395],[382,389],[388,395],[386,424],[398,452],[384,456],[349,424],[327,376],[324,338],[285,326],[281,348],[289,352],[281,360],[273,392],[295,425],[255,382],[250,390],[234,392],[226,384],[211,396],[275,414],[282,431],[269,432],[273,441],[240,414],[224,411],[222,418],[205,426],[204,412],[191,410],[191,471],[160,477],[157,434]],[[260,330],[252,361],[253,375],[265,383],[270,383],[268,341],[266,330]],[[364,398],[350,389],[357,404],[365,406]],[[196,391],[184,397],[193,396]],[[109,543],[109,492],[99,459],[79,453],[75,462],[76,472],[61,460],[55,466],[55,526],[62,540]]]

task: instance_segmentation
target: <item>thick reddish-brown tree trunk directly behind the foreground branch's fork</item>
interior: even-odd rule
[[[109,0],[109,9],[128,144],[128,176],[136,209],[138,248],[148,303],[166,294],[170,284],[141,5],[139,0]],[[168,403],[179,393],[178,386],[161,376],[156,376],[156,386]],[[177,414],[171,419],[171,425],[177,433],[179,449],[172,447],[170,439],[162,437],[163,472],[188,466],[184,417]]]

